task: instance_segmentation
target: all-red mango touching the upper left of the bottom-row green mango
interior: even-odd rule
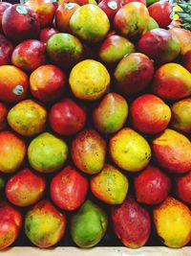
[[[51,182],[51,198],[62,210],[73,211],[85,200],[88,180],[71,166],[55,175]]]

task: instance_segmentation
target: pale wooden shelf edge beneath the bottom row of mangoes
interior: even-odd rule
[[[0,252],[1,256],[191,256],[191,246],[171,249],[163,246],[141,247],[94,247],[80,249],[76,247],[55,247],[40,249],[36,247],[11,247]]]

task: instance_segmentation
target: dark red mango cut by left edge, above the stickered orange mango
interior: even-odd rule
[[[13,45],[11,42],[4,35],[0,35],[0,66],[11,63],[12,51]]]

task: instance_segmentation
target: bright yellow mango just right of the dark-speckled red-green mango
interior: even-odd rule
[[[151,159],[148,142],[132,128],[122,128],[111,137],[109,152],[117,166],[129,172],[144,169]]]

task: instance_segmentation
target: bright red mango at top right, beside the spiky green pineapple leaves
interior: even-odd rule
[[[171,23],[170,14],[173,11],[171,4],[167,1],[159,1],[148,7],[149,15],[159,24],[159,28],[166,29]]]

